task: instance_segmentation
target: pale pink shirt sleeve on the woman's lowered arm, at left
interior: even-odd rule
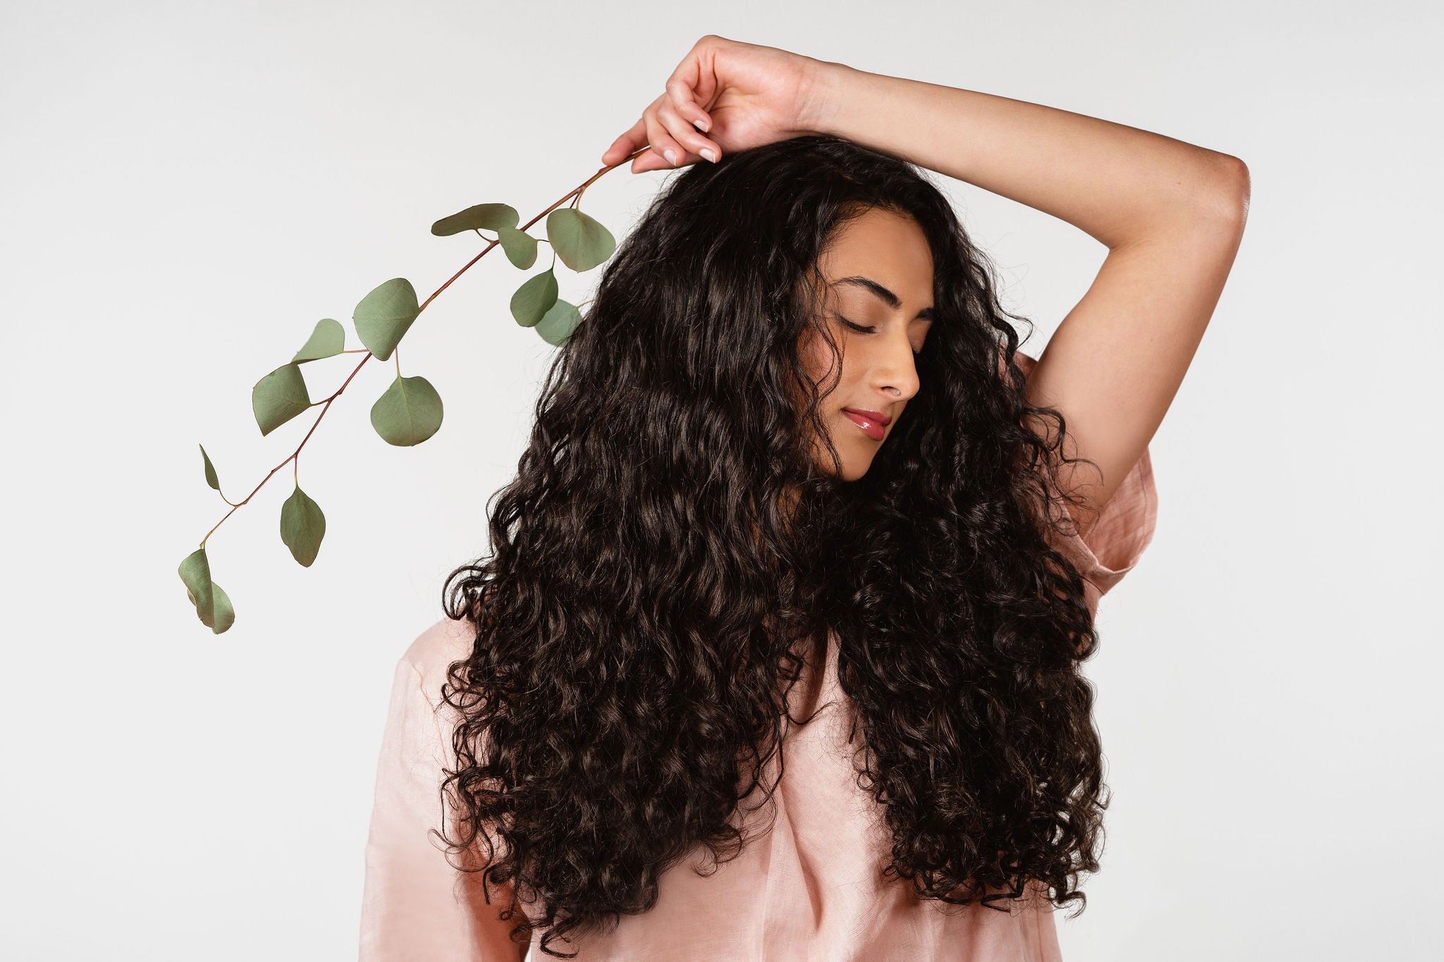
[[[498,917],[511,887],[492,883],[487,904],[482,873],[456,870],[430,835],[443,828],[442,766],[455,766],[452,724],[436,707],[455,710],[439,684],[439,671],[417,668],[410,652],[396,665],[365,845],[360,962],[520,962],[530,946],[508,936],[521,916]]]

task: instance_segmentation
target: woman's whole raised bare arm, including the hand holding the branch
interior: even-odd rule
[[[666,94],[602,162],[650,144],[632,170],[656,170],[807,133],[966,180],[1108,247],[1027,388],[1030,402],[1063,412],[1063,453],[1102,472],[1060,472],[1083,499],[1074,515],[1086,534],[1152,440],[1203,339],[1243,234],[1248,167],[1135,127],[716,35],[693,45]]]

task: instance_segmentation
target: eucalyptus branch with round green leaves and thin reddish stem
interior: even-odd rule
[[[243,505],[250,503],[251,498],[286,464],[293,466],[295,492],[282,505],[280,537],[290,550],[292,557],[302,567],[310,567],[316,560],[326,531],[326,518],[321,511],[321,505],[300,489],[300,451],[306,447],[310,436],[315,434],[321,420],[326,417],[331,404],[345,392],[347,387],[368,361],[375,358],[384,362],[396,353],[396,381],[371,405],[371,427],[381,436],[381,440],[397,447],[412,447],[430,438],[440,430],[440,395],[426,378],[406,378],[401,375],[401,355],[397,348],[416,317],[492,248],[500,244],[507,260],[514,267],[530,270],[536,264],[537,244],[544,239],[552,247],[553,257],[547,270],[527,278],[513,293],[510,304],[511,316],[520,326],[536,329],[537,335],[550,345],[562,346],[570,339],[582,316],[576,304],[570,304],[557,296],[556,260],[560,258],[570,270],[583,273],[605,262],[617,250],[617,241],[598,221],[582,213],[579,208],[582,195],[604,173],[627,163],[643,150],[647,150],[647,147],[641,147],[615,164],[602,167],[521,226],[517,226],[521,218],[516,208],[505,203],[479,203],[436,221],[432,225],[432,234],[436,237],[475,231],[482,239],[490,242],[420,304],[416,301],[416,288],[404,277],[394,277],[373,288],[352,312],[355,333],[364,348],[348,350],[345,346],[345,330],[341,327],[341,323],[325,317],[316,322],[310,337],[287,363],[283,363],[256,382],[256,387],[251,388],[251,411],[256,415],[256,423],[263,437],[312,407],[318,404],[322,407],[316,420],[312,421],[310,430],[306,431],[300,444],[296,446],[296,450],[273,467],[251,489],[251,493],[240,502],[231,502],[221,492],[221,482],[215,466],[211,463],[209,454],[205,453],[205,446],[201,446],[205,482],[231,508],[205,532],[205,537],[201,538],[201,547],[186,555],[178,568],[180,581],[186,588],[186,596],[195,606],[196,616],[202,625],[219,635],[235,623],[235,609],[231,604],[231,599],[211,578],[211,564],[205,552],[206,541]],[[567,202],[570,202],[569,206],[562,206]],[[527,231],[542,218],[547,221],[547,235],[546,238],[534,238]],[[481,234],[482,229],[494,231],[497,237],[487,238]],[[361,363],[355,366],[331,397],[319,401],[310,400],[306,379],[300,371],[302,363],[342,353],[362,352],[365,356],[361,358]]]

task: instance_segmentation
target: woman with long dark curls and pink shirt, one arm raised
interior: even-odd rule
[[[686,170],[397,665],[362,959],[1057,959],[1246,169],[718,36],[666,89],[602,162]],[[917,167],[1108,245],[1037,361]]]

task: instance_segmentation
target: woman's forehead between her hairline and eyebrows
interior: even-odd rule
[[[895,291],[905,304],[933,303],[933,251],[923,229],[907,215],[872,208],[852,218],[839,228],[817,265],[829,283],[861,274]],[[851,284],[839,287],[838,294],[872,297]]]

